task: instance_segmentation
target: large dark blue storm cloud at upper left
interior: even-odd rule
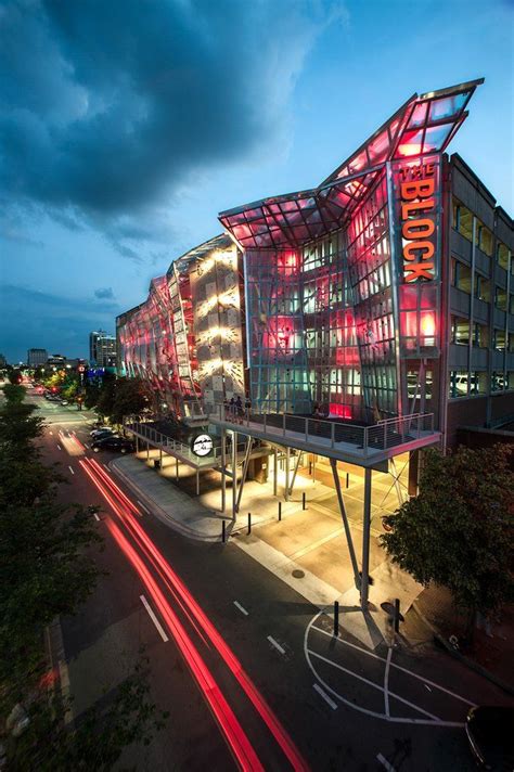
[[[138,261],[123,241],[152,239],[152,229],[136,213],[191,173],[273,142],[304,56],[330,18],[324,8],[7,0],[0,186],[67,228],[85,217]]]

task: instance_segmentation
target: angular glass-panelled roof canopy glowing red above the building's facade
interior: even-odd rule
[[[228,209],[219,219],[243,248],[292,247],[340,228],[387,160],[442,152],[484,78],[413,94],[318,188]]]

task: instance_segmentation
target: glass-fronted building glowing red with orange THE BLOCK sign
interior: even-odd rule
[[[446,153],[481,82],[414,94],[317,188],[221,213],[227,234],[118,318],[120,366],[179,416],[248,394],[367,424],[429,412],[444,443],[506,422],[513,221]]]

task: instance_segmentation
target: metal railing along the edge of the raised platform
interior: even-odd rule
[[[223,423],[237,426],[260,425],[270,438],[285,437],[288,433],[299,435],[305,442],[319,445],[320,448],[340,448],[347,443],[363,451],[387,450],[403,445],[422,436],[434,434],[434,413],[415,413],[380,421],[372,426],[344,424],[336,421],[312,416],[292,415],[290,413],[257,413],[252,410],[236,410],[223,404],[217,406],[216,417]]]

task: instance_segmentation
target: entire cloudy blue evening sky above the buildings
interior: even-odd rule
[[[0,0],[0,351],[87,356],[217,214],[324,179],[414,91],[512,215],[512,0]]]

